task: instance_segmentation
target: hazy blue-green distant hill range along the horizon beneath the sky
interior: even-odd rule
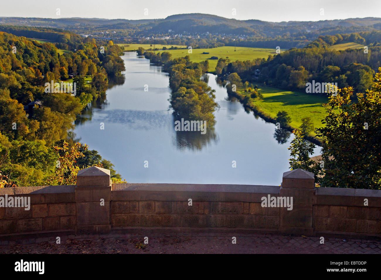
[[[256,19],[228,19],[212,14],[174,14],[164,19],[99,18],[0,18],[0,25],[49,27],[84,34],[115,34],[114,37],[152,37],[176,34],[208,34],[221,37],[293,37],[299,42],[319,35],[349,34],[381,29],[381,18],[350,18],[324,21],[267,22]],[[306,42],[307,42],[306,41]]]

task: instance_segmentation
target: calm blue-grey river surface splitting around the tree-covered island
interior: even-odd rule
[[[280,185],[283,172],[290,170],[287,148],[293,136],[279,144],[275,125],[247,114],[238,101],[228,101],[226,89],[212,74],[207,74],[208,85],[221,106],[214,131],[175,131],[168,111],[168,74],[135,52],[122,59],[125,83],[107,90],[102,108],[93,108],[91,119],[76,125],[74,132],[110,160],[126,181]]]

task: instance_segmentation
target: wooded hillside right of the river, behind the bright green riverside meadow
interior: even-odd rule
[[[329,48],[347,40],[367,47],[344,51]],[[230,74],[237,73],[242,82],[266,83],[287,90],[305,91],[306,83],[314,80],[338,83],[339,88],[353,86],[355,91],[364,92],[372,85],[375,71],[381,65],[380,42],[380,31],[320,36],[305,48],[282,51],[267,60],[229,62],[220,58],[216,74],[226,80]],[[257,69],[259,74],[254,75]]]

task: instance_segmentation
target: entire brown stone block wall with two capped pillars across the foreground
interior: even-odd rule
[[[76,186],[0,189],[6,195],[30,197],[31,206],[0,207],[2,240],[141,230],[381,237],[381,190],[316,188],[301,169],[285,172],[281,186],[112,184],[109,170],[93,166]],[[292,210],[262,207],[263,197],[292,198]]]

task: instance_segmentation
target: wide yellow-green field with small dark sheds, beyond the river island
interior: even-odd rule
[[[181,56],[189,55],[192,61],[201,62],[211,56],[217,56],[218,58],[229,58],[230,61],[236,60],[253,60],[256,58],[267,58],[269,54],[275,54],[275,49],[264,48],[245,48],[237,47],[234,51],[234,46],[223,46],[212,49],[193,49],[192,53],[188,53],[188,50],[166,50],[172,54],[172,58],[178,58]],[[202,54],[203,52],[209,54]],[[209,71],[213,72],[216,69],[218,59],[208,59]]]

